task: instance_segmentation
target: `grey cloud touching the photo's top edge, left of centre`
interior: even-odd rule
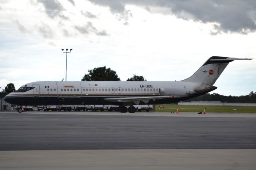
[[[45,12],[50,18],[59,16],[64,20],[69,19],[67,16],[62,14],[62,11],[65,11],[65,8],[60,4],[60,2],[58,2],[58,0],[38,0],[38,2],[44,5]]]

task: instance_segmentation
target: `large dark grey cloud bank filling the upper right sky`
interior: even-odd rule
[[[194,22],[213,24],[212,35],[222,33],[248,34],[256,31],[255,0],[90,0],[100,6],[108,6],[114,14],[120,14],[128,24],[127,4],[145,6],[152,13],[162,13],[169,8],[170,15]],[[158,10],[152,10],[156,7]]]

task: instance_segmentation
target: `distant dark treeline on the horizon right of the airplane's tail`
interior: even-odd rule
[[[251,91],[246,96],[223,96],[218,93],[204,94],[202,96],[187,100],[189,101],[221,101],[227,103],[256,103],[256,92]]]

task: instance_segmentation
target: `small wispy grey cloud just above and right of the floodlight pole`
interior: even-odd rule
[[[109,36],[105,30],[98,31],[96,27],[92,25],[91,22],[87,22],[84,26],[74,26],[75,30],[80,32],[81,34],[90,34],[94,33],[97,36]]]

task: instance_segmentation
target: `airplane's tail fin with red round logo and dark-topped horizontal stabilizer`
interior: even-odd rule
[[[201,83],[212,86],[227,67],[234,60],[251,60],[248,58],[210,57],[191,77],[182,81]]]

